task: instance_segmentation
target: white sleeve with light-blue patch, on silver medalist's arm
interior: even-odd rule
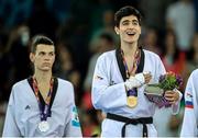
[[[69,114],[67,119],[68,122],[65,127],[65,137],[82,137],[78,112],[75,105],[74,88],[70,99],[72,99],[72,104],[69,105]]]

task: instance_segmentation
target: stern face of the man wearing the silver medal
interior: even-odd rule
[[[36,70],[50,71],[55,60],[54,46],[40,44],[35,54],[31,53],[30,58]]]

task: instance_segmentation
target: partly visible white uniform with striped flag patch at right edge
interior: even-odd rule
[[[185,114],[182,137],[198,137],[198,69],[194,70],[185,90]]]

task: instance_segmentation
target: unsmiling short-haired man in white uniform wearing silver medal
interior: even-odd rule
[[[11,91],[3,137],[81,137],[74,87],[53,77],[55,45],[44,35],[32,38],[32,77]]]

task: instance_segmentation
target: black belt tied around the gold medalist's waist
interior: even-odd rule
[[[107,118],[125,123],[122,127],[122,137],[125,137],[125,126],[129,124],[132,124],[132,125],[142,124],[143,125],[143,137],[147,137],[146,124],[153,124],[153,117],[142,117],[142,118],[133,119],[133,118],[128,118],[124,116],[108,113]]]

